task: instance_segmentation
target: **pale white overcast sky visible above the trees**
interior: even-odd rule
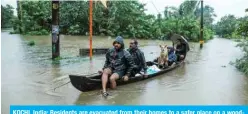
[[[147,3],[146,9],[148,14],[162,13],[165,6],[178,7],[184,0],[139,0],[143,3]],[[10,4],[16,8],[16,0],[1,0],[2,5]],[[153,4],[156,8],[153,6]],[[236,17],[242,17],[247,15],[245,9],[248,8],[248,0],[204,0],[204,5],[210,5],[214,8],[218,21],[222,16],[227,14],[233,14]],[[16,11],[15,11],[16,15]]]

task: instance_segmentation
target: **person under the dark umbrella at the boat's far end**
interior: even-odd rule
[[[186,44],[182,41],[182,39],[178,39],[178,41],[179,44],[176,46],[177,61],[183,61],[187,53]]]

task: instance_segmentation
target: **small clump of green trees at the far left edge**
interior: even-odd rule
[[[1,28],[10,28],[12,27],[11,21],[14,17],[13,7],[10,5],[2,6],[1,5]]]

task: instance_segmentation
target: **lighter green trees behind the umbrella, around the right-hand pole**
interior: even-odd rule
[[[199,41],[200,36],[200,16],[201,9],[199,1],[185,1],[179,9],[175,7],[165,7],[164,27],[162,31],[168,33],[178,33],[185,36],[191,41]],[[194,7],[192,7],[194,6]],[[212,30],[214,9],[210,6],[205,6],[204,10],[204,32],[203,40],[209,40],[213,38],[214,32]]]

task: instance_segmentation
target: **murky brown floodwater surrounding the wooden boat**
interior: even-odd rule
[[[104,99],[99,90],[81,93],[70,83],[54,91],[69,81],[69,74],[91,74],[103,67],[104,55],[96,55],[92,61],[79,56],[79,49],[89,45],[88,37],[61,36],[62,59],[53,62],[51,36],[7,32],[1,36],[3,114],[17,104],[248,104],[248,76],[229,64],[242,56],[231,40],[215,38],[203,49],[199,43],[190,43],[183,66],[150,80],[119,86]],[[113,40],[94,37],[93,47],[111,47]],[[36,45],[28,46],[29,41]],[[126,48],[128,42],[125,40]],[[140,40],[147,60],[157,57],[162,43]]]

